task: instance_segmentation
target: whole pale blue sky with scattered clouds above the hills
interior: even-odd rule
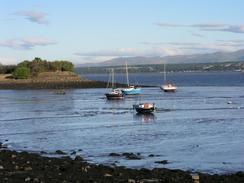
[[[243,0],[0,0],[0,63],[244,48]]]

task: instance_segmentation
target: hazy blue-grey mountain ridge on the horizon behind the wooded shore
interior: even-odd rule
[[[129,65],[154,65],[167,62],[169,64],[177,63],[216,63],[216,62],[230,62],[230,61],[244,61],[244,50],[235,52],[215,52],[206,54],[193,55],[175,55],[165,57],[128,57],[128,58],[114,58],[100,63],[81,64],[77,67],[106,67],[106,66],[121,66],[125,61]]]

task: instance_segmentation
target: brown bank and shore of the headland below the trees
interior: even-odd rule
[[[0,75],[0,89],[30,90],[30,89],[75,89],[75,88],[106,88],[107,83],[80,78],[72,72],[40,73],[37,78],[12,79],[10,75]],[[123,87],[124,84],[117,84]]]

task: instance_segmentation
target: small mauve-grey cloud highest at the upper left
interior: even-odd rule
[[[34,22],[37,24],[48,24],[49,22],[46,20],[46,14],[42,12],[35,12],[35,11],[20,11],[14,13],[17,16],[23,16],[25,19],[29,20],[30,22]]]

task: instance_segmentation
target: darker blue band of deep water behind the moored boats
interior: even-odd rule
[[[108,74],[86,74],[91,80],[108,81]],[[149,86],[163,83],[163,73],[129,74],[130,82]],[[116,82],[126,83],[125,74],[116,74]],[[168,73],[167,79],[177,86],[244,86],[243,72]]]

